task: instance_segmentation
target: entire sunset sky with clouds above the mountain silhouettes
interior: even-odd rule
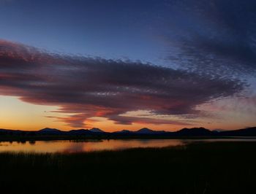
[[[256,2],[0,0],[0,128],[256,125]]]

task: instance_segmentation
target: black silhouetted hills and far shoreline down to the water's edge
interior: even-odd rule
[[[138,131],[129,131],[129,130],[122,130],[116,132],[105,132],[99,128],[91,128],[89,129],[78,129],[78,130],[70,130],[70,131],[61,131],[56,128],[43,128],[39,131],[20,131],[20,130],[10,130],[10,129],[0,129],[0,138],[4,139],[3,136],[9,136],[9,139],[13,139],[13,137],[22,137],[26,138],[26,136],[34,136],[43,138],[64,138],[69,139],[69,136],[75,136],[79,138],[79,136],[89,138],[101,137],[101,138],[168,138],[168,137],[178,137],[178,136],[215,136],[215,137],[222,137],[222,136],[256,136],[256,127],[252,128],[242,128],[233,131],[210,131],[206,128],[182,128],[179,131],[169,132],[169,131],[154,131],[149,128],[140,128]]]

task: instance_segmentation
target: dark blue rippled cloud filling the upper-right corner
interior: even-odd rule
[[[192,0],[170,4],[168,60],[209,74],[256,73],[256,1]]]

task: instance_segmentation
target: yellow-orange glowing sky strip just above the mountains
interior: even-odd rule
[[[63,131],[78,129],[68,126],[64,121],[58,120],[56,117],[65,117],[67,114],[56,112],[58,106],[35,105],[20,101],[17,97],[0,96],[0,128],[19,129],[24,131],[37,131],[39,129],[59,128]],[[107,112],[108,110],[105,110]],[[151,124],[151,123],[132,123],[132,125],[116,124],[112,120],[100,117],[102,112],[99,112],[99,117],[91,117],[85,121],[86,127],[80,128],[101,128],[103,131],[113,132],[121,130],[136,131],[140,128],[151,128],[157,131],[177,131],[181,128],[204,127],[209,129],[225,129],[232,130],[244,128],[241,123],[241,115],[233,122],[225,122],[209,120],[207,118],[197,120],[194,125],[171,125],[171,124]],[[230,115],[232,115],[230,113]],[[129,115],[129,114],[128,114]],[[135,115],[132,112],[129,116]],[[136,116],[136,115],[135,115]],[[248,120],[247,123],[253,125],[253,120]]]

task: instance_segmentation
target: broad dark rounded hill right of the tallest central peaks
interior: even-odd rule
[[[206,128],[183,128],[180,131],[173,132],[178,136],[213,136],[216,132],[210,131]]]

